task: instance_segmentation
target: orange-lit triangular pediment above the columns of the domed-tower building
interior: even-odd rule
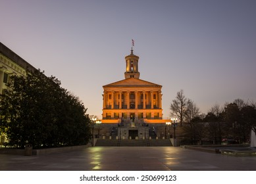
[[[162,86],[156,83],[151,83],[149,81],[144,81],[136,78],[128,78],[125,80],[120,80],[114,83],[103,85],[103,87],[162,87]]]

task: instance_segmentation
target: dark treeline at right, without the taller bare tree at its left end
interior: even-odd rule
[[[227,103],[223,108],[215,105],[207,114],[195,116],[184,123],[184,135],[193,145],[201,143],[249,143],[251,129],[256,128],[255,104],[241,99]]]

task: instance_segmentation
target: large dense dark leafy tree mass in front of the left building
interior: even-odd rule
[[[61,82],[39,70],[12,76],[9,90],[0,96],[0,129],[9,145],[59,147],[81,145],[90,139],[90,118],[77,97]]]

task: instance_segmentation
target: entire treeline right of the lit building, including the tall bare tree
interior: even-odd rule
[[[249,143],[251,130],[256,133],[256,103],[236,99],[223,107],[215,104],[207,114],[187,99],[183,90],[170,104],[171,116],[180,119],[184,144]]]

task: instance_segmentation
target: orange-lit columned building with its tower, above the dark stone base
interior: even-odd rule
[[[124,80],[103,86],[102,123],[163,123],[161,85],[140,80],[139,57],[125,57]]]

